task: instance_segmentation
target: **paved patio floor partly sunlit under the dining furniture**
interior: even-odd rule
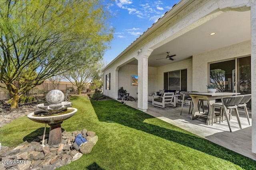
[[[120,102],[120,100],[118,101]],[[138,109],[137,102],[125,101],[125,104]],[[189,106],[184,106],[182,115],[180,115],[180,105],[177,107],[169,107],[168,109],[160,109],[152,106],[149,102],[148,110],[145,113],[256,160],[256,154],[252,153],[252,127],[248,124],[244,109],[238,110],[242,129],[239,128],[236,116],[233,114],[234,111],[232,111],[233,116],[230,120],[232,133],[229,131],[226,121],[206,125],[206,120],[203,117],[191,120],[191,114],[188,114],[188,109]],[[251,111],[248,110],[248,112],[251,124]]]

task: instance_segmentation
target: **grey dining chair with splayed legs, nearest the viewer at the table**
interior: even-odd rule
[[[231,115],[231,110],[230,110],[230,112],[228,112],[227,109],[235,109],[238,125],[239,125],[240,129],[242,129],[237,105],[240,104],[240,101],[243,98],[244,98],[244,95],[231,96],[231,97],[221,98],[221,103],[213,104],[214,109],[215,109],[215,107],[220,107],[220,118],[223,116],[223,114],[225,115],[230,132],[232,132],[232,130],[230,127],[230,121],[229,121],[230,118],[228,117],[228,115]],[[212,114],[212,125],[213,125],[213,120],[214,120],[214,113]],[[222,121],[223,121],[223,118],[222,118]]]

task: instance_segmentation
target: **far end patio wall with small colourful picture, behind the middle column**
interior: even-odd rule
[[[118,70],[118,89],[123,87],[130,93],[130,96],[138,97],[138,86],[132,86],[132,76],[138,76],[138,66],[126,64]],[[138,77],[140,81],[140,77]],[[148,67],[148,93],[154,93],[156,90],[156,68]]]

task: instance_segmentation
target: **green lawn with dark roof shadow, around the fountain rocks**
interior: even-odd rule
[[[71,98],[78,112],[62,123],[66,131],[95,131],[90,154],[63,170],[238,170],[256,169],[256,161],[117,101]],[[0,128],[4,146],[42,135],[44,124],[20,117]],[[49,129],[48,129],[49,130]]]

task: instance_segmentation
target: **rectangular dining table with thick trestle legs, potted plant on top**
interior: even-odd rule
[[[214,107],[212,106],[212,104],[215,103],[216,99],[220,99],[220,98],[225,98],[225,97],[230,97],[233,95],[238,95],[240,93],[232,93],[232,92],[216,92],[216,93],[208,93],[208,92],[191,92],[188,93],[190,95],[190,97],[192,98],[192,102],[193,102],[193,106],[198,106],[198,102],[200,99],[202,100],[207,100],[208,102],[208,106],[209,106],[209,110],[208,110],[208,115],[204,112],[200,112],[198,110],[198,107],[193,107],[193,111],[192,111],[192,117],[191,119],[194,120],[196,118],[198,118],[199,116],[202,117],[206,117],[206,125],[210,125],[212,122],[212,114],[214,114]],[[220,119],[218,117],[218,119]],[[215,121],[218,121],[218,119],[214,119]]]

